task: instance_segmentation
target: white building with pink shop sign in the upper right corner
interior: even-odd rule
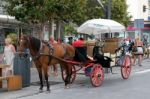
[[[132,16],[127,27],[128,36],[147,37],[150,43],[150,0],[127,0],[128,13]]]

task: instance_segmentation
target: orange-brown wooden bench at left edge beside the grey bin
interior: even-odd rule
[[[0,77],[0,81],[7,81],[7,90],[19,90],[22,88],[22,77],[20,75],[10,75],[6,77]],[[3,86],[2,86],[3,87]]]

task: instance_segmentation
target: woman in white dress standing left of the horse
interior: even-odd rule
[[[15,52],[16,50],[12,44],[11,38],[6,38],[3,59],[5,61],[5,64],[10,65],[10,67],[6,68],[5,76],[13,74],[13,63],[14,63]]]

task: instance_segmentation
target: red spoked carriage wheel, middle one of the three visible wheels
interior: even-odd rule
[[[104,70],[100,64],[94,64],[91,71],[91,83],[94,87],[101,86],[104,81]]]

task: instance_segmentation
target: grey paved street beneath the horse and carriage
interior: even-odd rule
[[[117,74],[105,74],[105,80],[101,87],[94,88],[89,77],[78,75],[70,89],[64,89],[64,83],[60,76],[49,78],[52,81],[51,93],[44,91],[39,93],[39,86],[34,83],[39,81],[35,68],[31,69],[31,86],[19,91],[1,92],[0,99],[149,99],[150,88],[150,60],[146,59],[143,66],[133,66],[131,76],[123,80],[120,68],[114,68]],[[44,87],[44,90],[46,88]]]

